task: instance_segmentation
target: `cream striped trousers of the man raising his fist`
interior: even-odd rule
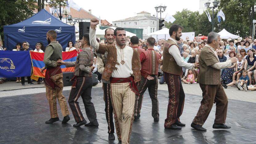
[[[122,140],[123,144],[130,143],[135,103],[135,93],[130,89],[130,82],[110,83],[110,96],[118,140]]]

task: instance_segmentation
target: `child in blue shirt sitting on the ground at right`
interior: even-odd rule
[[[225,85],[222,84],[222,86],[226,89],[228,86],[235,85],[237,86],[238,90],[245,90],[247,91],[247,85],[249,85],[249,77],[247,76],[247,70],[243,70],[242,77],[239,78],[238,81],[230,82],[229,84]]]

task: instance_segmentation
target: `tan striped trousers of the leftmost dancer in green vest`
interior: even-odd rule
[[[60,74],[53,75],[50,78],[57,86],[60,87],[60,88],[52,89],[50,86],[45,85],[46,86],[46,98],[47,98],[47,100],[49,102],[49,105],[50,105],[51,118],[58,118],[59,117],[58,113],[57,113],[57,101],[56,101],[57,98],[58,98],[58,101],[59,101],[62,116],[65,117],[65,116],[69,115],[69,111],[68,111],[68,106],[67,106],[67,103],[66,103],[66,98],[62,94],[62,90],[63,90],[62,78],[63,78],[63,75],[62,75],[62,73],[60,73]]]

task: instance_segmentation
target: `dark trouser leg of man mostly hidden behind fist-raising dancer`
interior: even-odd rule
[[[110,85],[103,82],[103,98],[105,101],[105,112],[106,112],[106,120],[108,123],[108,133],[114,133],[114,122],[113,122],[113,107],[110,98]]]

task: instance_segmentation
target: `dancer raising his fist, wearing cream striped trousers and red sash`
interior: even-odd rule
[[[126,46],[126,31],[123,28],[118,27],[114,30],[116,45],[109,46],[98,44],[96,41],[95,32],[99,20],[92,18],[90,24],[91,46],[99,54],[108,52],[102,79],[110,80],[110,98],[118,140],[129,143],[134,120],[135,93],[138,93],[135,82],[141,79],[139,54]]]

